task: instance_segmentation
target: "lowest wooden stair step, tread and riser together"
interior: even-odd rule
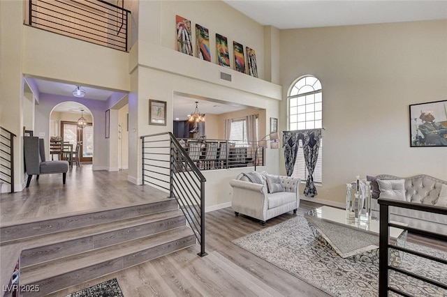
[[[191,228],[177,227],[22,268],[20,284],[38,285],[40,289],[39,292],[27,292],[24,296],[43,296],[195,244],[196,236]]]

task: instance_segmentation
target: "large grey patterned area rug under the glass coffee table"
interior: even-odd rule
[[[379,296],[379,264],[343,259],[330,245],[316,240],[303,215],[237,238],[233,243],[332,296]],[[406,248],[447,259],[447,252],[413,243]],[[404,254],[400,268],[447,283],[447,266]],[[447,296],[447,291],[390,271],[390,286],[413,296]],[[390,296],[397,296],[390,292]]]

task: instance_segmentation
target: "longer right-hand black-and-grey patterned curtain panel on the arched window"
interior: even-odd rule
[[[314,185],[314,169],[316,160],[318,160],[318,150],[320,149],[321,129],[306,130],[302,132],[303,144],[302,149],[305,154],[305,162],[307,167],[307,182],[304,195],[307,197],[315,197],[317,195]]]

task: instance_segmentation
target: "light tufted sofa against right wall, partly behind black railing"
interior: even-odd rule
[[[381,195],[381,189],[378,187],[376,179],[386,180],[404,180],[404,197],[402,200],[413,203],[439,205],[440,195],[442,192],[445,197],[447,189],[447,181],[420,174],[408,178],[381,174],[379,176],[367,176],[367,180],[371,181],[372,188],[372,217],[379,218],[379,204],[377,198]],[[383,190],[383,189],[382,189]],[[383,191],[382,191],[383,192]],[[441,206],[446,207],[444,203]],[[390,207],[390,220],[408,224],[409,227],[424,229],[436,232],[438,234],[447,235],[447,216],[437,213],[427,213],[424,211],[414,211],[412,209]]]

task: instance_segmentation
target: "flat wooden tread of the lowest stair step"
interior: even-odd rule
[[[149,250],[163,243],[176,241],[179,238],[194,236],[190,227],[177,227],[168,231],[151,234],[144,238],[138,238],[124,243],[117,243],[105,248],[99,248],[72,256],[43,262],[33,266],[22,268],[21,284],[34,284],[40,280],[46,280],[57,275],[64,275],[77,271],[80,268],[95,266],[105,261],[111,261],[120,257],[125,257],[135,252]],[[183,248],[183,247],[182,247]],[[149,260],[149,259],[147,259]]]

